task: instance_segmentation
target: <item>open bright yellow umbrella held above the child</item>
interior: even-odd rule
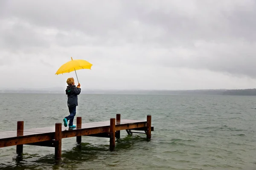
[[[71,61],[66,62],[64,65],[61,65],[61,67],[58,69],[58,71],[55,74],[63,74],[63,73],[70,73],[71,71],[80,70],[80,69],[91,69],[92,64],[90,62],[87,62],[83,59],[75,59],[71,57]],[[77,74],[76,74],[77,78]],[[77,78],[78,81],[78,78]],[[79,81],[78,81],[79,83]]]

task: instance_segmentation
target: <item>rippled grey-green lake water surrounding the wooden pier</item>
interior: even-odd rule
[[[0,130],[54,126],[68,115],[62,94],[0,94]],[[62,159],[54,148],[0,148],[0,169],[9,170],[255,170],[256,97],[193,95],[79,95],[82,122],[152,116],[152,139],[121,131],[116,148],[106,138],[63,139]],[[76,122],[76,119],[75,121]]]

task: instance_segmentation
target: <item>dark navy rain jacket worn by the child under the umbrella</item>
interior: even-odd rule
[[[81,93],[81,88],[76,88],[75,85],[69,87],[67,86],[66,94],[67,94],[67,106],[74,107],[78,106],[77,95]]]

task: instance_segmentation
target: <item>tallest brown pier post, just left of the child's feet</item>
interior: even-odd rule
[[[61,158],[61,123],[55,123],[55,159]]]

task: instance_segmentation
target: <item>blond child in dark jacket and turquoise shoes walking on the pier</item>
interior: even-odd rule
[[[68,127],[76,127],[73,125],[73,120],[74,117],[76,116],[76,106],[78,106],[78,101],[77,101],[77,95],[81,93],[81,87],[80,83],[75,86],[75,80],[73,77],[70,77],[67,79],[67,89],[66,89],[66,94],[67,94],[67,107],[70,112],[70,115],[65,117],[63,119],[64,126],[67,127],[67,121],[69,120]]]

